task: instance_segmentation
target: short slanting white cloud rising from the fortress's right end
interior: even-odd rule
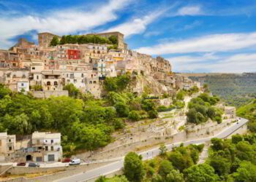
[[[143,33],[146,31],[146,28],[150,23],[163,15],[166,11],[167,9],[162,9],[155,12],[150,12],[148,15],[129,20],[126,23],[121,23],[113,28],[109,28],[107,31],[120,31],[121,33],[124,33],[124,36]]]

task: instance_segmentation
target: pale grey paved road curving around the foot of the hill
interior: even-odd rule
[[[225,130],[222,130],[222,132],[219,132],[217,135],[214,135],[209,138],[201,138],[197,140],[192,140],[192,141],[185,141],[183,142],[185,146],[189,144],[200,144],[200,143],[205,143],[206,141],[211,141],[211,138],[227,138],[227,136],[231,135],[233,132],[238,130],[240,127],[242,127],[244,124],[248,122],[247,119],[241,118],[239,119],[239,122],[235,122],[233,124],[230,124],[230,127],[227,127]],[[181,143],[172,143],[167,145],[167,149],[171,150],[173,147],[179,146]],[[151,159],[153,157],[156,157],[159,154],[159,149],[151,149],[148,151],[144,151],[140,153],[143,157],[143,160],[146,159]],[[122,157],[119,161],[113,162],[109,165],[105,165],[102,167],[98,167],[94,170],[89,170],[77,175],[72,175],[69,176],[68,178],[62,178],[59,179],[59,182],[70,182],[70,181],[87,181],[92,178],[96,178],[100,175],[108,175],[110,173],[116,172],[118,170],[121,170],[124,164],[124,157]]]

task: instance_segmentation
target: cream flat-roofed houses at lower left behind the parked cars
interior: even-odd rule
[[[58,162],[61,158],[61,133],[33,132],[20,141],[0,133],[0,162]]]

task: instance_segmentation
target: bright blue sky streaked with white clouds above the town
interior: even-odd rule
[[[0,0],[0,49],[45,31],[120,31],[176,72],[256,71],[256,0]]]

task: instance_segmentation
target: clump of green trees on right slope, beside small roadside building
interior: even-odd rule
[[[218,123],[222,122],[222,110],[214,107],[218,101],[217,96],[211,97],[208,93],[202,93],[197,98],[192,98],[189,102],[187,122],[200,124],[207,122],[208,119]]]

